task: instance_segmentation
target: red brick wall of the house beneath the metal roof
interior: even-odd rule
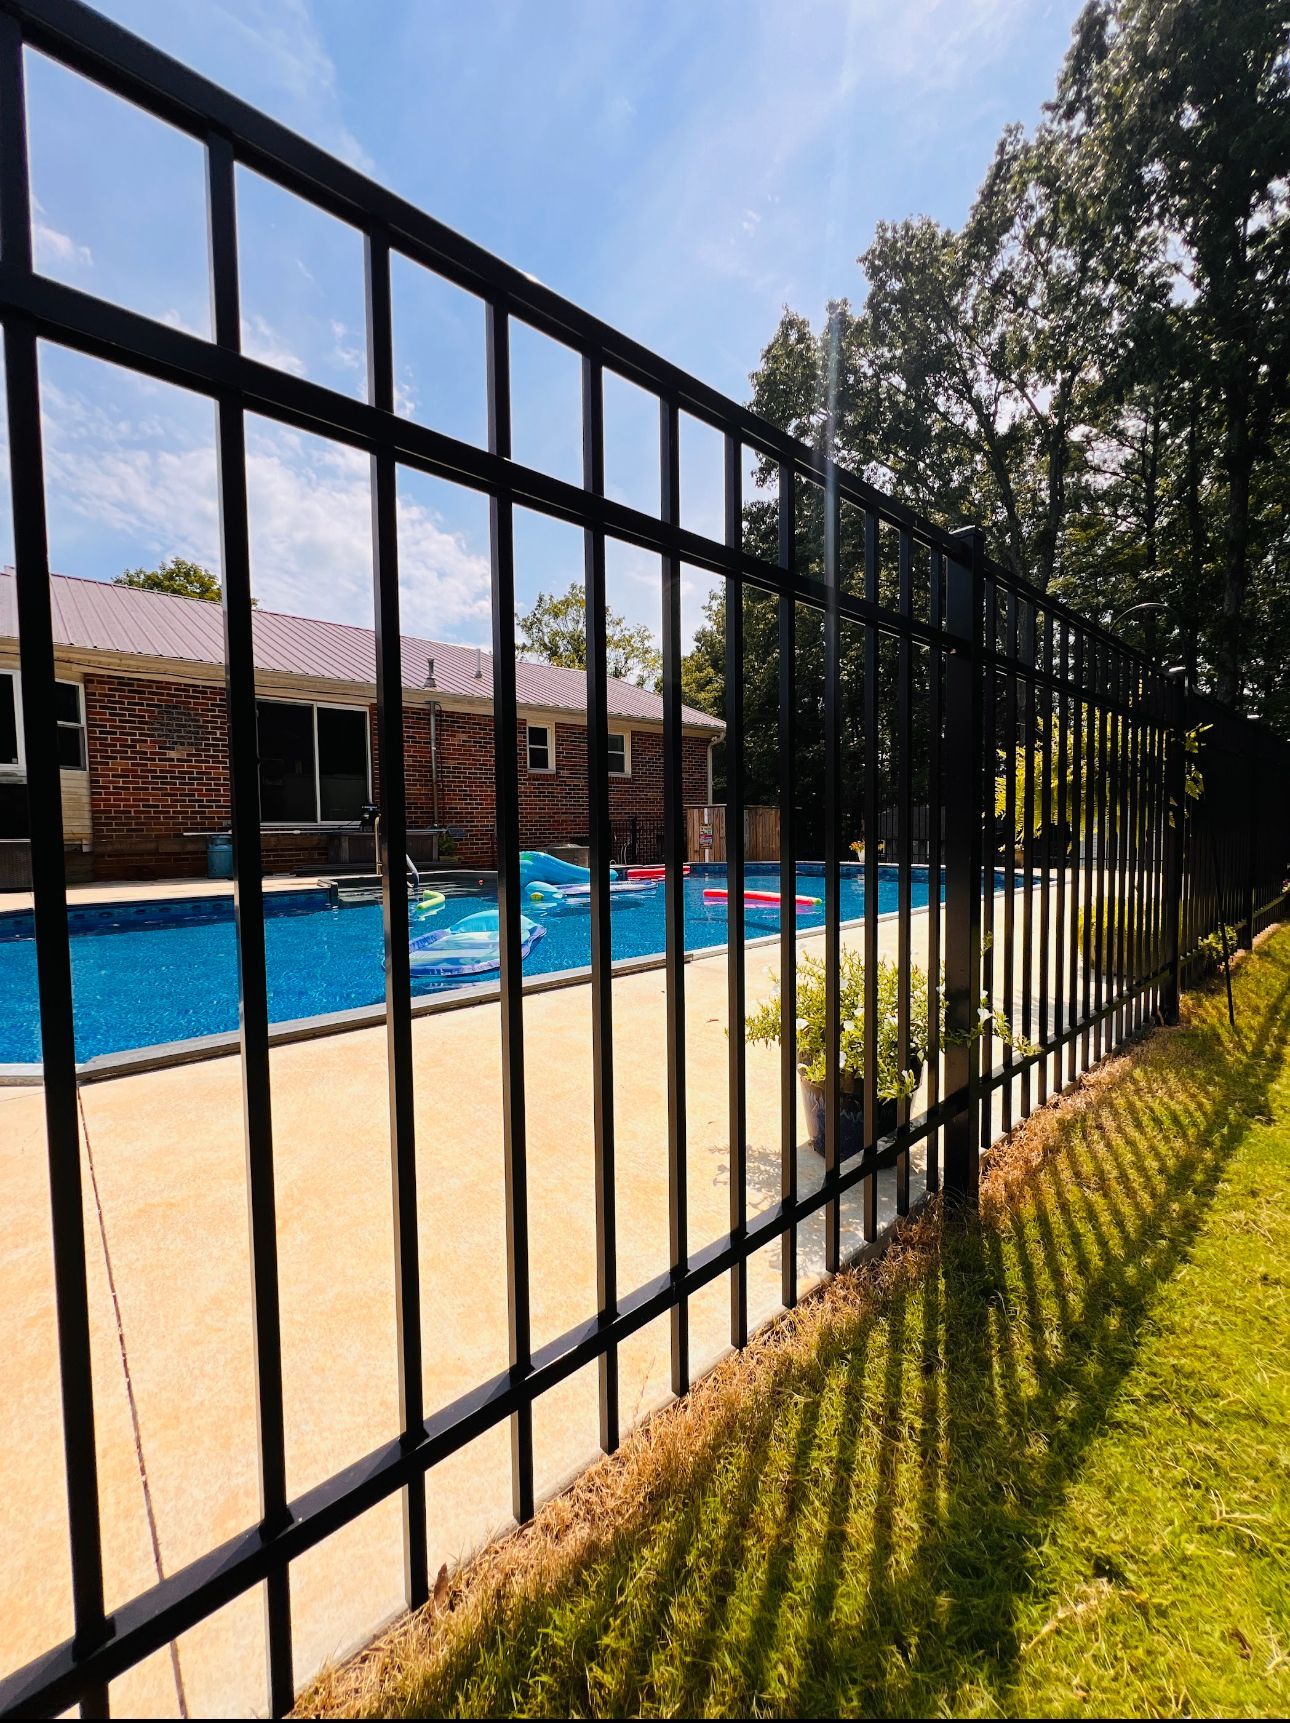
[[[95,874],[100,879],[158,879],[205,874],[205,839],[184,832],[217,830],[229,822],[227,722],[224,689],[191,682],[150,682],[124,675],[84,679],[90,743],[90,805]],[[520,841],[587,841],[587,734],[580,724],[556,724],[555,772],[527,770],[525,725],[517,731],[520,763]],[[493,718],[489,713],[441,712],[439,824],[462,827],[460,860],[467,867],[496,862],[493,793]],[[370,708],[374,793],[381,782],[375,706]],[[408,825],[434,824],[431,713],[405,712]],[[708,799],[708,743],[684,741],[684,799]],[[610,781],[613,818],[663,818],[663,737],[632,734],[630,777]],[[322,867],[326,843],[310,836],[265,832],[270,872]]]

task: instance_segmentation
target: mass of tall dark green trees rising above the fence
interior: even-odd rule
[[[818,443],[832,408],[844,465],[1099,620],[1150,605],[1126,634],[1290,731],[1287,0],[1090,0],[963,226],[859,265],[858,308],[785,308],[756,410]]]

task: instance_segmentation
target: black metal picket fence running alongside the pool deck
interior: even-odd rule
[[[33,269],[26,159],[24,45],[64,60],[117,95],[179,126],[205,146],[214,339],[153,322],[41,277]],[[978,1154],[994,1132],[1026,1113],[1154,1015],[1176,1013],[1180,970],[1219,922],[1242,941],[1280,913],[1290,799],[1287,750],[1230,713],[1188,703],[1181,687],[1106,631],[990,562],[975,531],[949,534],[880,495],[828,458],[694,381],[618,331],[584,315],[529,276],[499,264],[393,193],[193,76],[74,0],[0,0],[0,314],[10,429],[12,505],[21,624],[22,715],[34,862],[34,913],[45,1110],[53,1204],[59,1361],[74,1577],[74,1635],[0,1683],[5,1711],[59,1711],[79,1702],[107,1711],[109,1682],[231,1599],[264,1585],[270,1694],[276,1713],[295,1692],[289,1568],[295,1558],[401,1492],[406,1601],[427,1597],[425,1473],[481,1432],[508,1421],[513,1509],[534,1511],[534,1403],[580,1366],[599,1372],[599,1439],[618,1442],[618,1346],[670,1316],[672,1385],[691,1384],[689,1299],[729,1277],[730,1340],[747,1339],[749,1258],[780,1241],[782,1299],[797,1297],[796,1237],[823,1211],[825,1263],[840,1263],[839,1208],[863,1192],[865,1232],[877,1230],[877,1175],[894,1170],[897,1206],[911,1204],[913,1151],[921,1180],[958,1201],[977,1192]],[[288,376],[241,351],[234,167],[245,164],[357,227],[365,239],[369,400],[355,401]],[[487,319],[489,443],[455,441],[394,412],[391,253],[403,253],[482,298]],[[567,484],[512,458],[508,336],[522,320],[582,360],[584,482]],[[90,1366],[86,1246],[78,1153],[78,1073],[59,789],[53,634],[50,617],[38,341],[183,384],[215,403],[222,517],[227,703],[231,715],[236,922],[241,977],[241,1067],[255,1311],[260,1518],[219,1549],[105,1611]],[[658,401],[661,495],[639,512],[605,495],[603,377],[618,372]],[[400,1428],[388,1442],[296,1499],[284,1466],[282,1356],[269,1072],[269,1013],[260,886],[260,810],[251,660],[245,417],[262,414],[363,450],[372,463],[381,862],[386,877],[389,1120],[394,1185],[393,1246],[400,1363]],[[680,526],[680,415],[725,441],[725,534]],[[754,451],[778,495],[778,550],[744,541],[744,451]],[[510,1368],[425,1416],[420,1346],[417,1144],[412,1108],[408,906],[401,889],[406,803],[396,474],[450,477],[491,507],[496,675],[498,896],[501,910],[501,1041],[505,1117],[505,1270]],[[822,543],[803,543],[803,505],[823,520]],[[517,700],[513,653],[513,510],[517,505],[584,531],[589,620],[591,1003],[596,1135],[598,1303],[560,1340],[530,1340],[525,1185],[524,989],[520,975]],[[847,534],[840,531],[844,515]],[[863,546],[858,557],[842,546]],[[615,538],[661,560],[665,774],[661,853],[667,860],[667,1154],[670,1268],[639,1287],[618,1285],[615,1213],[613,1020],[610,1011],[608,868],[617,834],[608,801],[605,546]],[[729,722],[729,1013],[744,1017],[744,615],[746,601],[777,615],[780,806],[799,806],[797,748],[818,724],[823,750],[823,870],[828,975],[827,1123],[823,1182],[797,1187],[794,818],[784,820],[780,886],[782,1191],[749,1220],[744,1039],[729,1037],[730,1215],[716,1239],[687,1237],[685,1204],[685,965],[682,863],[680,570],[718,575],[727,591]],[[799,620],[822,629],[818,684],[799,665]],[[844,675],[846,669],[846,675]],[[882,700],[880,686],[894,689]],[[818,694],[818,698],[816,698]],[[1202,732],[1190,756],[1185,732]],[[1188,763],[1204,794],[1187,794]],[[882,786],[890,786],[884,789]],[[882,805],[880,805],[882,803]],[[923,818],[930,913],[927,984],[915,992],[911,867],[916,808]],[[1190,808],[1192,817],[1185,818]],[[813,818],[820,810],[811,810]],[[866,965],[863,1151],[839,1144],[837,1001],[842,925],[840,868],[856,829],[890,817],[897,865],[896,961],[899,1037],[923,1020],[928,1056],[920,1111],[902,1099],[896,1129],[880,1132],[877,986],[878,856],[865,862],[863,925],[847,932]],[[854,824],[853,824],[854,820]],[[1014,856],[990,879],[995,836]],[[940,836],[944,832],[944,837]],[[1061,834],[1054,841],[1054,832]],[[639,836],[639,834],[637,834]],[[1056,858],[1054,858],[1056,849]],[[389,858],[396,865],[389,868]],[[818,862],[820,858],[815,856]],[[393,880],[393,889],[391,889]],[[942,905],[944,887],[944,905]],[[944,1032],[939,977],[944,972]],[[983,1056],[982,998],[997,1003],[1037,1044],[1035,1053]]]

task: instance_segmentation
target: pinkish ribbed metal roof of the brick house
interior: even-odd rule
[[[78,575],[50,577],[53,639],[59,646],[112,651],[134,658],[172,658],[176,663],[224,663],[224,617],[219,605],[174,593],[148,593]],[[255,669],[329,682],[375,682],[375,636],[348,622],[317,622],[277,610],[253,615]],[[0,574],[0,639],[17,638],[17,594],[12,569]],[[424,689],[429,660],[441,694],[493,700],[493,655],[475,646],[453,646],[403,636],[403,686]],[[582,670],[518,658],[515,693],[520,706],[586,712]],[[615,718],[661,722],[663,701],[649,689],[610,681],[608,710]],[[718,718],[682,706],[685,724],[720,734]]]

